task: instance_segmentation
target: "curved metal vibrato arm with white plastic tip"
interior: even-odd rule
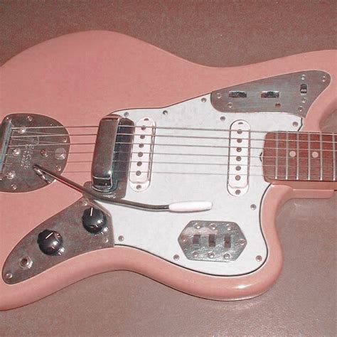
[[[71,181],[70,179],[65,178],[64,176],[60,176],[58,173],[54,173],[53,171],[45,169],[40,165],[37,164],[34,165],[33,170],[41,179],[46,181],[46,183],[51,183],[50,178],[48,178],[48,176],[50,176],[56,179],[57,181],[60,181],[60,183],[63,183],[70,188],[73,188],[75,191],[82,193],[84,196],[87,196],[87,198],[99,200],[104,203],[113,203],[116,205],[139,208],[141,210],[158,210],[158,211],[166,210],[169,212],[179,212],[179,213],[200,212],[203,210],[210,210],[212,208],[212,203],[210,201],[182,201],[167,205],[149,205],[146,203],[137,203],[134,201],[124,199],[112,199],[106,196],[102,196],[100,195],[100,193],[90,191],[87,188],[80,186],[78,183],[75,183],[74,181]]]

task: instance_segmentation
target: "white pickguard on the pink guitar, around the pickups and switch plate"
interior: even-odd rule
[[[167,113],[163,113],[164,110]],[[128,109],[116,113],[123,115],[125,112],[128,112],[128,118],[135,124],[139,119],[149,117],[154,120],[157,127],[149,188],[145,191],[134,191],[128,184],[125,199],[149,204],[206,200],[213,203],[213,208],[196,213],[169,213],[101,203],[112,215],[115,244],[135,247],[178,266],[205,274],[221,276],[247,274],[261,267],[268,254],[260,228],[260,207],[269,186],[262,176],[260,161],[264,132],[297,131],[301,127],[301,118],[284,112],[218,112],[210,104],[210,94],[170,107]],[[229,132],[200,131],[191,130],[191,128],[228,130],[230,125],[239,119],[250,124],[251,130],[249,188],[242,196],[232,196],[227,188],[228,148],[226,146],[229,141],[225,138],[228,138]],[[160,127],[186,129],[160,129]],[[161,135],[191,138],[161,137]],[[205,145],[205,147],[193,145]],[[171,155],[161,153],[171,153]],[[200,154],[200,156],[190,154]],[[183,164],[159,164],[159,162]],[[181,250],[178,237],[192,220],[237,223],[245,235],[247,245],[235,261],[188,260]]]

